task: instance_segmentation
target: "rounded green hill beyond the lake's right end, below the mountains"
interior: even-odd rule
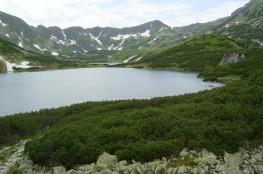
[[[224,36],[203,35],[160,53],[150,54],[131,65],[203,72],[208,67],[217,66],[224,53],[234,51],[242,51],[236,41]]]

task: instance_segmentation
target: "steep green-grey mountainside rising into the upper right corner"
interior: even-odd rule
[[[216,29],[217,33],[253,40],[263,40],[263,1],[251,0],[236,10]]]

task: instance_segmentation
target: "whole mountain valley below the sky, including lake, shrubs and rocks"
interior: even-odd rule
[[[263,173],[262,11],[65,29],[0,12],[0,173]]]

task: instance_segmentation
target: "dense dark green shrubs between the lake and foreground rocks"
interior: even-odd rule
[[[40,133],[26,146],[30,157],[38,164],[67,167],[93,162],[103,151],[148,161],[178,154],[183,147],[222,153],[256,146],[263,143],[262,55],[262,49],[248,50],[245,61],[214,66],[214,76],[241,80],[212,91],[84,103],[0,118],[0,142]]]

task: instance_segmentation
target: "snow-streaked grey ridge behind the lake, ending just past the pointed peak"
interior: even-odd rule
[[[156,41],[156,35],[171,27],[151,21],[129,28],[32,27],[22,19],[0,12],[0,37],[22,48],[50,52],[54,56],[95,50],[139,49]]]

